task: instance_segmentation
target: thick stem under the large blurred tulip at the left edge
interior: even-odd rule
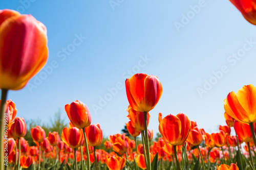
[[[7,89],[2,89],[1,94],[1,110],[0,110],[0,148],[4,148],[4,113],[5,113],[5,102],[7,97]],[[7,125],[8,126],[8,125]],[[6,127],[7,127],[6,126]],[[4,169],[4,152],[1,149],[0,152],[0,169]]]

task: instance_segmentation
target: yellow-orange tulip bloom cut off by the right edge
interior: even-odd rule
[[[246,85],[237,93],[231,91],[224,100],[224,109],[228,115],[242,123],[256,122],[256,88]]]

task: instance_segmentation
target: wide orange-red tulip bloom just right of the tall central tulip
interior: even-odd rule
[[[172,145],[182,145],[190,131],[190,120],[184,113],[169,114],[159,124],[159,132]]]

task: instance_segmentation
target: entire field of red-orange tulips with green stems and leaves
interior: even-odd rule
[[[230,1],[256,25],[255,1]],[[151,111],[164,91],[157,76],[144,73],[123,82],[129,103],[123,108],[126,133],[104,139],[101,125],[92,124],[95,117],[79,100],[62,106],[70,121],[61,132],[39,125],[29,128],[8,92],[24,88],[45,66],[47,43],[46,26],[32,15],[0,10],[0,170],[256,169],[256,87],[252,84],[225,94],[225,112],[219,118],[226,124],[216,133],[207,132],[182,112],[165,117],[159,113],[158,129],[148,129]]]

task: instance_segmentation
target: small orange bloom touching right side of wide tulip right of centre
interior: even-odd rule
[[[194,126],[194,128],[190,130],[189,135],[187,136],[187,141],[194,146],[199,145],[202,143],[203,137],[201,130],[197,127]]]

